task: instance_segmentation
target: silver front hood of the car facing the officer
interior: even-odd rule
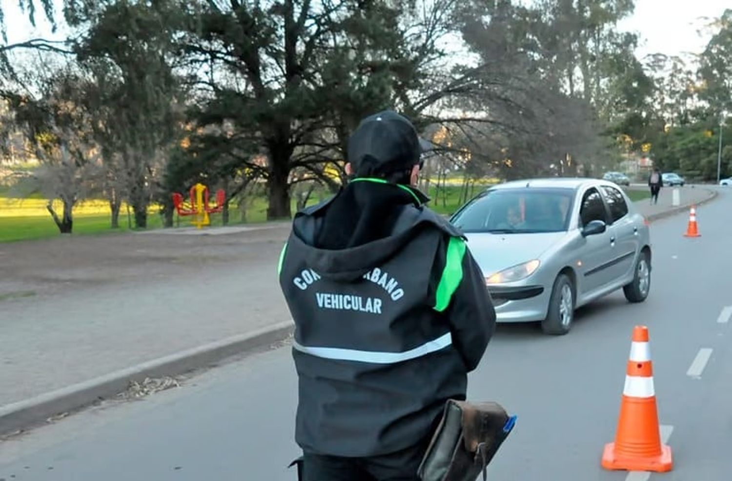
[[[540,258],[549,247],[559,242],[567,232],[541,234],[469,233],[468,248],[485,277],[509,267]]]

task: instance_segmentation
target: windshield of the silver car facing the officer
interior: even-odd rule
[[[534,187],[489,190],[460,209],[451,222],[466,233],[566,231],[574,193],[572,189]]]

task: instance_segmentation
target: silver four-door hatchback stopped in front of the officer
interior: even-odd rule
[[[468,237],[498,321],[566,334],[577,307],[651,287],[648,223],[616,184],[532,179],[491,187],[452,216]]]

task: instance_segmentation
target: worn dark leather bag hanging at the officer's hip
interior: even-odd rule
[[[419,474],[422,481],[475,481],[516,422],[498,403],[449,400]]]

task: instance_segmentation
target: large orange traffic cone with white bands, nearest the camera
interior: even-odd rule
[[[602,467],[671,471],[671,448],[661,444],[648,328],[636,326],[630,347],[615,442],[605,444]]]

